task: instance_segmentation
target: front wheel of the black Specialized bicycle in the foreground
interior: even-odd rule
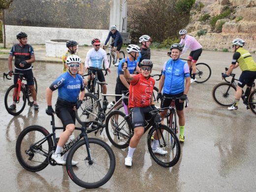
[[[68,153],[66,170],[70,179],[83,188],[98,188],[113,175],[116,159],[113,150],[104,141],[89,138],[90,151],[85,140],[75,144]],[[89,162],[90,153],[92,162]],[[72,160],[78,161],[72,166]]]

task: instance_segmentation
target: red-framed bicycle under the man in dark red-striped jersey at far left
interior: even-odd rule
[[[28,100],[29,106],[30,107],[33,106],[33,98],[32,98],[32,94],[29,86],[26,83],[22,82],[23,80],[27,81],[27,79],[24,78],[24,74],[13,73],[13,75],[18,75],[19,78],[18,78],[17,84],[14,84],[7,89],[4,96],[4,105],[9,114],[16,116],[21,114],[21,112],[24,110],[27,100]],[[8,78],[8,73],[3,73],[3,79],[4,78],[8,80],[11,79],[11,78]],[[37,82],[35,77],[33,77],[33,81],[34,81],[34,89],[35,89],[35,92],[37,93]],[[16,108],[14,110],[10,110],[9,106],[13,104],[14,101],[16,102]]]

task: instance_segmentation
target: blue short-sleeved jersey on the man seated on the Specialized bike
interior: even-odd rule
[[[81,75],[76,75],[75,78],[69,72],[63,73],[50,86],[52,91],[58,89],[58,98],[68,102],[75,103],[78,99],[80,91],[84,91],[84,83]]]

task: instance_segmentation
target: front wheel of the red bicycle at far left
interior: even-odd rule
[[[16,102],[16,109],[14,109],[14,110],[9,109],[9,106],[13,103],[14,93],[17,93],[17,90],[18,90],[18,85],[17,84],[12,85],[7,89],[5,96],[4,96],[5,108],[9,114],[14,115],[14,116],[21,114],[21,112],[24,110],[24,108],[26,106],[26,92],[23,88],[21,88],[20,99],[18,102]]]

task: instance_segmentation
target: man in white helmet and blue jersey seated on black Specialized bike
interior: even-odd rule
[[[66,163],[65,159],[67,155],[65,154],[64,158],[62,158],[61,151],[65,142],[69,140],[75,129],[75,110],[80,107],[85,96],[83,78],[78,74],[81,59],[76,55],[71,55],[66,59],[66,64],[68,65],[68,71],[58,77],[46,90],[46,101],[48,105],[46,114],[52,115],[54,112],[52,108],[52,95],[53,91],[58,89],[55,111],[57,112],[57,116],[61,119],[65,129],[60,136],[57,148],[52,155],[52,159],[58,164],[63,165]],[[76,165],[77,163],[77,161],[72,160],[72,165]]]

